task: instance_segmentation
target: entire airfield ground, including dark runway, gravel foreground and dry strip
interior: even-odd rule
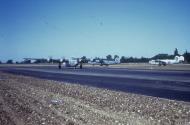
[[[190,124],[190,65],[0,65],[0,124]]]

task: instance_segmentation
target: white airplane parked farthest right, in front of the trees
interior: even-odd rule
[[[168,64],[178,64],[178,63],[182,63],[184,61],[184,57],[183,56],[175,56],[174,59],[157,59],[157,60],[150,60],[149,63],[150,64],[155,64],[155,65],[163,65],[166,66]]]

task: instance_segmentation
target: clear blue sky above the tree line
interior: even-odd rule
[[[190,0],[0,0],[0,60],[190,51]]]

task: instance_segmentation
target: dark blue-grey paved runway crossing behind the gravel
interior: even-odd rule
[[[116,91],[190,101],[190,71],[109,67],[63,68],[59,70],[56,66],[1,67],[0,71]]]

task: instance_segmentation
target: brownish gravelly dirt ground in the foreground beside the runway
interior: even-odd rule
[[[190,125],[190,102],[0,72],[0,125]]]

